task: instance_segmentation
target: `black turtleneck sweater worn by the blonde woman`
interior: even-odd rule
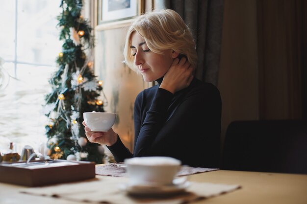
[[[162,78],[157,82],[160,84]],[[108,147],[117,162],[131,157],[167,156],[193,167],[218,168],[220,92],[196,78],[175,94],[159,85],[143,90],[134,103],[134,130],[133,154],[119,137]]]

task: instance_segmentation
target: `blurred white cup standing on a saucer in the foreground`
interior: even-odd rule
[[[171,185],[181,161],[171,157],[135,157],[125,159],[130,184]]]

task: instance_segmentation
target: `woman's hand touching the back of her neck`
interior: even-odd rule
[[[185,57],[182,57],[180,60],[176,58],[164,75],[160,88],[173,94],[187,88],[193,79],[193,70],[194,68],[192,68]]]

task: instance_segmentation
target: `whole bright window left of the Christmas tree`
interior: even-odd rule
[[[0,152],[16,144],[40,151],[47,141],[43,105],[61,51],[60,0],[0,0]],[[8,82],[8,83],[7,83]],[[4,85],[7,86],[5,87]]]

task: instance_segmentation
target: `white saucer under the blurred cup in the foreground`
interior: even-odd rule
[[[128,194],[139,196],[163,196],[184,192],[190,185],[190,182],[172,184],[172,185],[147,185],[147,184],[130,184],[122,183],[119,187]]]

